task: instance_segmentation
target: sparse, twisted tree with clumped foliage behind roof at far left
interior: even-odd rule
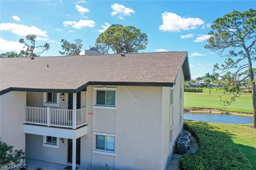
[[[26,36],[26,39],[29,43],[26,43],[25,40],[23,38],[20,39],[19,43],[24,44],[25,46],[23,48],[27,48],[27,50],[21,50],[20,54],[21,55],[25,55],[26,57],[39,57],[39,55],[37,54],[42,54],[44,51],[48,51],[50,49],[50,46],[48,43],[45,43],[44,45],[40,45],[40,46],[36,46],[36,35],[33,34],[29,34]],[[31,44],[31,45],[30,45]],[[41,49],[41,52],[37,52],[35,53],[34,50],[35,49]]]

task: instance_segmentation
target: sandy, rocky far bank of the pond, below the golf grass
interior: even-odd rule
[[[243,116],[253,116],[251,113],[239,113],[239,112],[228,112],[221,109],[213,108],[201,108],[201,107],[184,107],[184,112],[191,113],[222,113],[222,114],[233,114],[233,115],[243,115]]]

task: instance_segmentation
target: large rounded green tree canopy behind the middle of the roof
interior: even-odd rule
[[[123,26],[113,24],[104,33],[101,33],[94,43],[104,54],[112,51],[114,54],[119,53],[137,53],[139,50],[146,49],[148,36],[141,33],[140,29],[135,26]]]

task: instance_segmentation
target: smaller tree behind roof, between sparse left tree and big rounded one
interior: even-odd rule
[[[75,39],[75,43],[68,42],[66,39],[61,39],[61,47],[63,51],[59,51],[62,55],[79,55],[81,52],[81,48],[83,47],[81,39]]]

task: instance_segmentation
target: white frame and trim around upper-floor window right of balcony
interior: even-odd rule
[[[93,87],[94,91],[95,91],[95,99],[94,99],[94,103],[95,105],[92,106],[95,109],[114,109],[116,110],[116,89],[117,88],[112,88],[112,87]],[[115,91],[115,105],[101,105],[101,104],[97,104],[97,91]],[[105,93],[105,97],[107,96],[107,93]],[[106,102],[106,99],[105,99]]]

